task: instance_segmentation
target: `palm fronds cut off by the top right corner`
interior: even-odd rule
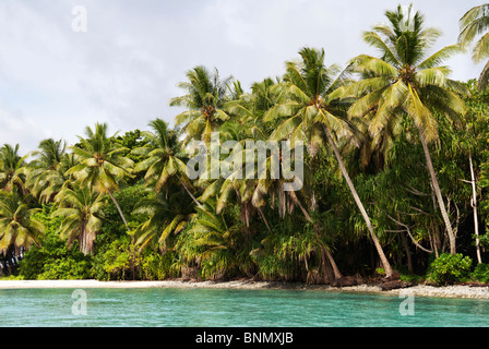
[[[468,10],[460,20],[461,34],[458,43],[468,46],[477,35],[484,35],[477,40],[472,50],[474,62],[480,63],[489,58],[489,3],[484,3]],[[480,73],[477,87],[485,91],[489,83],[489,61]]]

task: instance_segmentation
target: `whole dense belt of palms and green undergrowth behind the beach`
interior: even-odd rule
[[[457,82],[443,61],[485,33],[488,13],[469,10],[460,43],[433,50],[441,33],[398,7],[363,33],[378,55],[344,70],[306,47],[283,76],[246,92],[195,67],[170,100],[186,110],[175,128],[156,119],[110,135],[97,123],[77,144],[45,140],[24,156],[4,144],[1,274],[322,284],[397,270],[487,282],[489,69]],[[477,61],[488,36],[474,45]],[[290,180],[270,172],[189,177],[190,141],[211,145],[213,132],[220,144],[303,141],[303,185],[285,191]],[[242,170],[250,157],[238,153]]]

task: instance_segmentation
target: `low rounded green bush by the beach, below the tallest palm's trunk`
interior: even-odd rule
[[[429,280],[437,286],[463,281],[470,275],[472,258],[461,253],[443,253],[428,268]]]

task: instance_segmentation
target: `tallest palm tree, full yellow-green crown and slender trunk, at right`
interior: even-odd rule
[[[347,95],[360,97],[349,109],[350,117],[373,112],[369,132],[382,132],[392,118],[408,116],[419,131],[427,167],[437,201],[455,253],[455,234],[450,222],[440,185],[429,152],[429,143],[438,140],[436,115],[453,121],[465,112],[465,104],[457,94],[465,94],[461,83],[448,77],[450,70],[439,65],[451,55],[461,51],[451,45],[427,57],[428,49],[440,36],[434,28],[424,27],[424,16],[410,10],[406,16],[401,5],[385,13],[389,24],[378,25],[363,33],[367,44],[380,50],[381,57],[360,55],[353,60],[361,80],[348,87]]]

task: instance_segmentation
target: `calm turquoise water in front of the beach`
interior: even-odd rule
[[[414,315],[403,316],[405,298],[379,294],[199,288],[84,291],[86,314],[76,315],[73,289],[0,290],[0,326],[489,326],[489,300],[415,297]]]

